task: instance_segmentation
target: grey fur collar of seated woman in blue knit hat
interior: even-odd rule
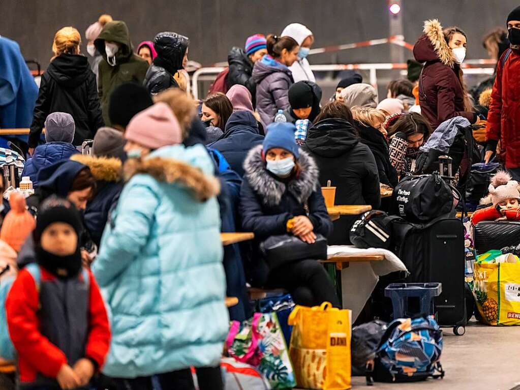
[[[304,204],[310,194],[318,189],[318,166],[305,151],[300,150],[300,175],[287,184],[287,189],[296,197],[298,202]],[[251,149],[244,161],[245,177],[253,191],[255,191],[266,206],[280,204],[285,193],[286,184],[275,179],[269,174],[262,159],[262,145]]]

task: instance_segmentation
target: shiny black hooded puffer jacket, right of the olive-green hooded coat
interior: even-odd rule
[[[158,94],[165,89],[179,87],[173,76],[183,69],[183,58],[188,45],[187,36],[174,32],[162,32],[155,36],[153,47],[157,51],[157,57],[146,72],[143,83],[148,92]]]

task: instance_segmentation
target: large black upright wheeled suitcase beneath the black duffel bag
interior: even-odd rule
[[[467,323],[464,283],[464,226],[460,219],[443,218],[429,224],[394,223],[393,252],[405,263],[407,282],[440,282],[435,298],[440,326],[462,335]]]

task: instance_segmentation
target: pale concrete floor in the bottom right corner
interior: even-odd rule
[[[489,327],[474,319],[466,334],[456,336],[443,328],[444,347],[440,362],[443,380],[417,383],[375,383],[374,390],[510,390],[520,385],[520,327]],[[360,376],[353,388],[370,388]],[[515,389],[516,390],[516,389]]]

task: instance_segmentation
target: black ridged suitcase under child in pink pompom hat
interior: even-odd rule
[[[473,228],[473,241],[479,255],[491,249],[516,246],[520,244],[520,222],[505,220],[479,222]]]

